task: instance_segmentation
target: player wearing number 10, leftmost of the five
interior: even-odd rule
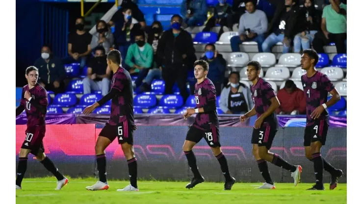
[[[50,171],[58,180],[55,190],[60,190],[68,183],[65,178],[55,167],[52,160],[45,155],[43,138],[45,136],[46,124],[45,116],[48,106],[47,91],[39,84],[39,72],[36,67],[26,68],[27,85],[23,87],[22,100],[16,108],[16,116],[20,115],[24,109],[26,112],[26,138],[19,152],[18,172],[16,177],[16,189],[22,189],[22,180],[26,172],[28,154],[32,153],[44,167]]]

